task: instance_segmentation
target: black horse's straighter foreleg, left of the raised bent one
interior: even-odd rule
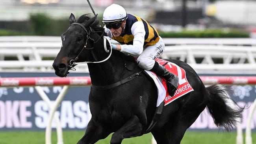
[[[106,138],[109,134],[110,132],[107,129],[104,129],[100,123],[92,118],[88,123],[85,135],[77,144],[94,144],[98,140]]]

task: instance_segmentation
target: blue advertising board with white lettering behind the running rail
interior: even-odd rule
[[[5,73],[0,77],[50,77],[54,73]],[[89,76],[89,74],[73,73],[69,76]],[[49,99],[54,102],[62,86],[42,87]],[[234,85],[234,99],[240,106],[251,105],[256,98],[256,85]],[[70,87],[65,98],[59,105],[56,113],[64,130],[85,129],[91,113],[88,96],[90,87]],[[249,109],[243,112],[242,127],[245,129]],[[48,121],[49,109],[34,87],[0,87],[0,129],[8,130],[45,130]],[[52,127],[56,127],[53,122]],[[256,113],[251,128],[256,129]],[[200,114],[191,130],[218,129],[206,110]]]

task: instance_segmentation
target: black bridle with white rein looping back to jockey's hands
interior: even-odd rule
[[[92,62],[92,61],[84,61],[84,62],[76,63],[76,61],[78,60],[79,55],[83,52],[84,49],[86,49],[86,50],[92,50],[92,49],[94,48],[94,46],[93,46],[92,48],[87,48],[87,42],[88,42],[88,40],[90,39],[91,41],[93,41],[93,42],[94,42],[94,45],[95,45],[95,43],[98,42],[98,41],[102,38],[102,36],[104,35],[104,32],[102,32],[102,35],[100,35],[100,38],[99,38],[97,41],[94,41],[94,39],[92,39],[92,38],[90,37],[90,34],[91,34],[91,33],[98,33],[98,32],[101,32],[101,31],[93,31],[93,29],[90,27],[90,30],[89,30],[89,32],[88,32],[88,31],[86,30],[86,28],[85,28],[82,24],[77,23],[77,22],[72,23],[71,25],[78,25],[78,26],[82,27],[83,30],[85,31],[85,33],[87,34],[87,39],[86,39],[86,41],[85,41],[85,45],[84,45],[83,49],[79,52],[79,54],[76,56],[76,58],[69,61],[69,65],[68,65],[68,66],[71,67],[70,70],[76,70],[76,69],[73,67],[73,65],[79,65],[79,64],[84,64],[84,63],[102,63],[102,62],[107,61],[107,60],[109,59],[109,57],[110,57],[111,54],[112,54],[112,46],[111,46],[111,42],[109,41],[109,39],[104,36],[104,50],[105,50],[107,53],[109,52],[109,50],[108,50],[108,48],[107,48],[107,46],[106,46],[106,41],[108,41],[108,42],[109,42],[109,45],[110,45],[110,54],[109,54],[109,56],[108,56],[106,59],[104,59],[104,60],[102,60],[102,61],[95,61],[95,62]],[[71,26],[71,25],[70,25],[70,26]]]

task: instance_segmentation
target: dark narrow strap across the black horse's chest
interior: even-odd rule
[[[139,77],[139,74],[142,72],[143,70],[141,70],[140,72],[136,72],[135,74],[132,74],[131,76],[128,76],[127,78],[125,79],[121,79],[120,81],[117,81],[116,83],[113,83],[113,84],[110,84],[110,85],[103,85],[103,86],[100,86],[100,85],[93,85],[91,84],[91,88],[93,89],[112,89],[114,87],[117,87],[119,85],[122,85],[124,83],[127,83],[128,81],[134,79],[134,78],[137,78]]]

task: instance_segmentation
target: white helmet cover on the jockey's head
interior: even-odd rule
[[[104,23],[112,23],[119,20],[125,20],[127,18],[127,13],[124,7],[118,4],[111,4],[108,6],[103,13],[103,21]]]

